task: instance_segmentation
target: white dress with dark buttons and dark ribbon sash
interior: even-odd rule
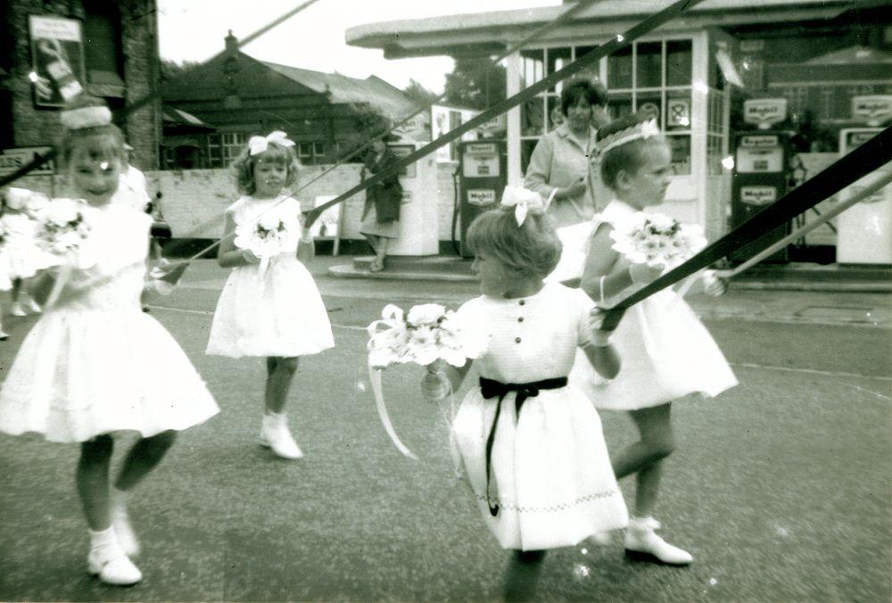
[[[591,300],[564,285],[545,285],[521,299],[479,297],[461,313],[483,321],[491,342],[475,360],[480,376],[502,384],[566,377],[588,341]],[[471,389],[452,425],[453,449],[487,527],[505,549],[572,546],[628,521],[601,433],[598,412],[573,386],[542,389],[516,412],[516,392],[501,402],[491,450],[486,442],[498,397]],[[498,505],[496,516],[490,505]]]

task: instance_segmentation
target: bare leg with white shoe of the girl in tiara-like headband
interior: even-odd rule
[[[650,516],[657,505],[663,459],[672,454],[675,441],[670,404],[650,409],[632,410],[632,421],[641,435],[639,442],[622,450],[614,459],[617,479],[637,475],[635,514],[629,519],[625,533],[626,554],[632,558],[657,561],[673,566],[686,566],[693,561],[686,550],[669,544],[657,536],[659,523]]]

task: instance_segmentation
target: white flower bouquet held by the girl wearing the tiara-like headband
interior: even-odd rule
[[[660,213],[639,211],[615,225],[613,248],[633,264],[671,269],[706,247],[703,229]]]

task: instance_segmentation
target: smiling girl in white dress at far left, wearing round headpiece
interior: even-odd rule
[[[0,431],[79,442],[76,481],[90,530],[87,568],[128,585],[142,575],[125,493],[169,450],[176,432],[219,412],[186,354],[139,305],[151,219],[111,197],[124,165],[124,139],[101,101],[78,97],[62,112],[61,156],[74,196],[93,208],[88,245],[98,260],[32,280],[55,288],[21,344],[0,391]],[[110,479],[112,434],[136,432],[120,473]],[[110,488],[111,485],[111,488]]]

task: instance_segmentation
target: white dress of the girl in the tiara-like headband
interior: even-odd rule
[[[634,212],[614,200],[596,216],[592,232],[602,222],[613,224]],[[628,266],[620,258],[612,271]],[[615,379],[602,379],[581,355],[570,373],[571,383],[599,409],[644,409],[697,392],[714,397],[738,384],[712,335],[671,289],[626,310],[612,340],[623,361]]]

